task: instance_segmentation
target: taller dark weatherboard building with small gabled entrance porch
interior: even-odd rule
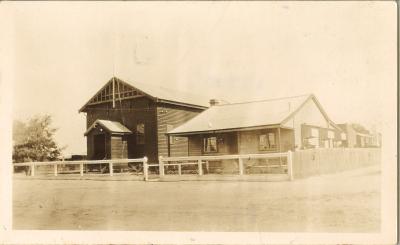
[[[187,139],[168,144],[166,132],[207,106],[207,99],[193,94],[113,77],[79,110],[86,113],[87,158],[147,156],[158,162],[169,151],[187,156]]]

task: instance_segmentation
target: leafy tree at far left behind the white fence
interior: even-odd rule
[[[54,140],[56,128],[51,127],[51,116],[36,115],[27,123],[14,121],[13,161],[54,161],[63,148]]]

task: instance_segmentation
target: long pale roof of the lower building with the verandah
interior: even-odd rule
[[[309,100],[314,100],[324,117],[327,116],[314,95],[300,95],[262,101],[212,106],[168,134],[184,135],[229,129],[280,126],[292,118]]]

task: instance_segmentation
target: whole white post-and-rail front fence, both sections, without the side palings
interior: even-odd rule
[[[114,160],[84,160],[84,161],[52,161],[52,162],[24,162],[24,163],[14,163],[14,167],[18,166],[28,166],[30,167],[30,175],[35,176],[36,166],[53,166],[54,176],[57,176],[58,166],[60,165],[79,165],[80,176],[84,175],[84,165],[91,164],[108,164],[109,165],[109,175],[114,175],[114,166],[116,164],[123,163],[142,163],[143,164],[143,176],[144,180],[149,180],[150,168],[158,168],[158,176],[163,178],[166,173],[165,169],[170,166],[177,166],[178,175],[182,175],[183,166],[193,166],[196,169],[198,175],[203,175],[203,166],[208,169],[208,164],[211,161],[223,161],[223,160],[234,160],[230,164],[238,164],[238,176],[246,175],[245,173],[245,161],[256,160],[256,159],[285,159],[284,162],[280,161],[275,165],[267,166],[253,166],[253,167],[278,167],[287,169],[286,174],[288,179],[293,179],[293,153],[291,151],[281,152],[281,153],[267,153],[267,154],[243,154],[243,155],[219,155],[219,156],[187,156],[187,157],[160,157],[158,164],[149,164],[147,157],[135,158],[135,159],[114,159]],[[236,162],[237,161],[237,162]]]

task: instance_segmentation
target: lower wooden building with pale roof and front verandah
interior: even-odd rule
[[[345,140],[314,95],[214,105],[168,135],[187,137],[189,155],[341,147]]]

